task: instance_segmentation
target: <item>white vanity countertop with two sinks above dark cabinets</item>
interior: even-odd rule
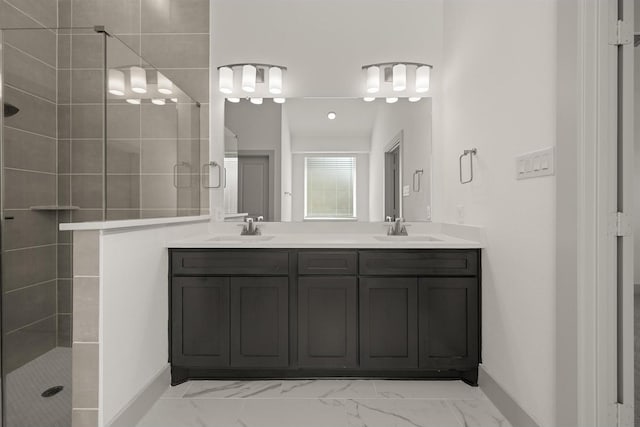
[[[260,236],[241,236],[244,224],[218,224],[209,233],[169,242],[170,248],[350,248],[477,249],[482,228],[454,224],[407,223],[408,236],[387,236],[388,224],[309,225],[259,223]]]

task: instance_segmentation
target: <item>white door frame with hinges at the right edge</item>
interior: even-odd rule
[[[618,312],[618,288],[633,304],[633,233],[617,236],[616,215],[621,208],[632,215],[625,193],[632,188],[633,116],[628,102],[619,103],[618,83],[620,77],[633,85],[633,64],[623,61],[619,74],[615,45],[618,12],[631,22],[632,3],[557,2],[556,425],[633,425],[633,374],[620,389],[617,381],[619,363],[628,370],[633,360],[633,316],[628,304]],[[622,126],[619,107],[631,117],[623,117]],[[625,343],[620,352],[618,322]]]

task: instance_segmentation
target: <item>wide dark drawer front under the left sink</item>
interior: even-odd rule
[[[289,253],[275,250],[174,251],[175,275],[271,275],[289,274]]]

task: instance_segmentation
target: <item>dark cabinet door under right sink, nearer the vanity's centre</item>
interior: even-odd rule
[[[418,367],[417,279],[360,279],[360,366]]]

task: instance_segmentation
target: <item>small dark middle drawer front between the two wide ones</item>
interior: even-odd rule
[[[355,251],[304,251],[298,254],[298,273],[304,275],[349,275],[358,270]]]

